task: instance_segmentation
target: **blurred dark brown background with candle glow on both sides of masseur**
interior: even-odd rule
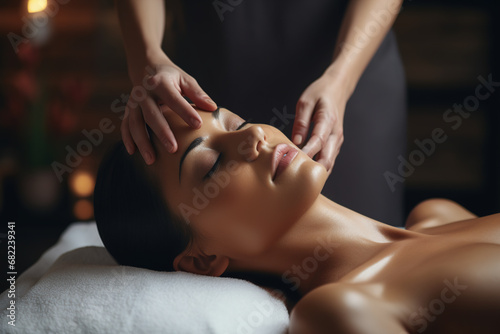
[[[98,163],[120,138],[123,96],[131,88],[112,1],[69,1],[33,22],[27,9],[36,4],[0,5],[0,277],[8,271],[9,221],[19,275],[71,222],[93,219]],[[406,212],[429,197],[453,199],[478,215],[499,211],[500,93],[480,101],[456,130],[443,120],[454,104],[473,101],[480,76],[500,81],[499,14],[497,1],[403,5],[394,30],[408,81],[405,158],[435,128],[448,136],[396,185],[406,189]],[[100,131],[103,120],[114,129]],[[398,164],[394,157],[394,171]]]

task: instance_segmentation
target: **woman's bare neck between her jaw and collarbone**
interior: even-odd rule
[[[405,232],[320,195],[269,251],[233,261],[228,269],[277,275],[290,289],[305,295],[338,281],[391,242],[406,237]]]

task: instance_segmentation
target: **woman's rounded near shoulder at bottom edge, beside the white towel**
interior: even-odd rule
[[[330,283],[305,295],[290,314],[289,334],[406,333],[387,304],[361,284]]]

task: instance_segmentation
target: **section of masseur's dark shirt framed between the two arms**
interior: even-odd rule
[[[245,118],[270,123],[273,109],[284,107],[294,114],[300,94],[331,63],[346,1],[232,3],[240,4],[182,1],[176,63],[218,104]],[[291,128],[293,121],[281,118],[274,125]]]

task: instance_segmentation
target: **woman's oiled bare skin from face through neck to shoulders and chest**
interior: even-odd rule
[[[236,130],[243,120],[224,109],[219,119],[199,114],[203,126],[192,130],[165,110],[181,147],[173,155],[159,150],[151,167],[166,202],[194,203],[193,189],[204,189],[197,166],[215,161],[215,152],[238,172],[190,216],[189,228],[203,237],[176,256],[176,270],[279,275],[304,296],[291,312],[291,334],[500,333],[500,215],[477,218],[430,200],[413,210],[407,230],[383,224],[322,196],[326,169],[278,129]],[[204,149],[190,153],[181,183],[181,154],[198,137],[207,138]],[[297,154],[274,179],[280,144]]]

